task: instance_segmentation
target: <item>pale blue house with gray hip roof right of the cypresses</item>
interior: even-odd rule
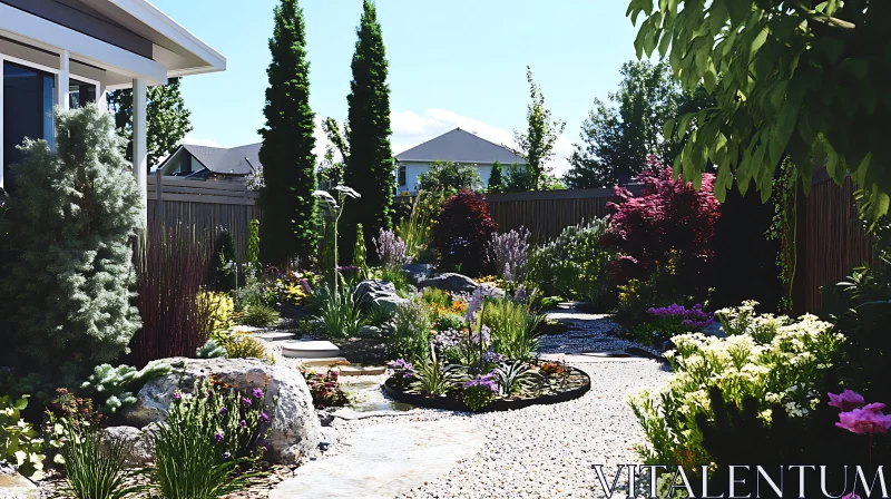
[[[430,168],[433,162],[453,162],[476,168],[482,179],[482,187],[489,185],[492,164],[498,162],[507,169],[511,164],[526,165],[526,159],[505,146],[486,140],[476,134],[456,128],[420,146],[398,154],[398,193],[418,192],[418,178]]]

